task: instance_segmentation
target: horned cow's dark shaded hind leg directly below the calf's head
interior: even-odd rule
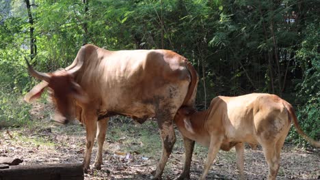
[[[185,146],[185,166],[183,167],[183,172],[176,180],[190,179],[190,165],[192,153],[194,152],[194,140],[183,136],[183,145]]]

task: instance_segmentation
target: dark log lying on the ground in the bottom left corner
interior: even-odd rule
[[[0,169],[1,180],[83,180],[82,164],[32,164]]]

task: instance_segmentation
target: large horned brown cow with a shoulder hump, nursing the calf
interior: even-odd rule
[[[28,61],[27,65],[29,74],[42,82],[25,95],[25,101],[36,100],[48,87],[57,109],[55,121],[66,123],[77,116],[85,125],[85,172],[90,168],[95,136],[94,168],[101,168],[109,117],[124,115],[139,123],[155,117],[163,148],[153,179],[161,179],[176,142],[176,111],[194,106],[196,98],[198,74],[185,57],[171,50],[111,51],[86,44],[65,69],[44,73],[34,70]],[[184,139],[187,148],[194,145],[193,140]],[[186,154],[187,164],[191,153]]]

